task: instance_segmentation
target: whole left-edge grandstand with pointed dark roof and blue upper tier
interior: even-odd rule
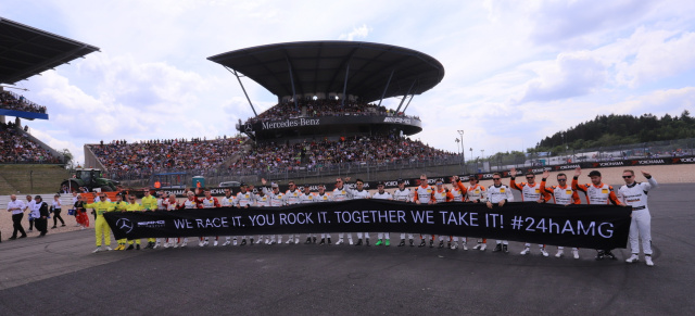
[[[28,134],[22,122],[49,119],[48,109],[5,89],[99,48],[4,17],[0,41],[0,194],[56,191],[67,176],[64,156]]]

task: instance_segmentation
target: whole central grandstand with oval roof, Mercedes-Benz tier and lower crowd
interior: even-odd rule
[[[421,122],[405,114],[416,94],[444,76],[437,60],[414,50],[368,42],[311,41],[231,51],[208,60],[247,76],[278,97],[263,113],[239,122],[245,137],[206,141],[115,140],[85,146],[86,165],[109,178],[147,185],[155,173],[186,172],[258,182],[292,174],[336,175],[453,165],[458,155],[409,138]],[[243,86],[242,86],[243,87]],[[396,109],[384,98],[402,97]],[[255,108],[250,102],[254,113]],[[151,182],[151,180],[150,180]]]

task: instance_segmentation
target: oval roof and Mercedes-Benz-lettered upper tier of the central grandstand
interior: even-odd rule
[[[303,41],[260,46],[214,55],[239,79],[249,77],[278,97],[278,103],[329,99],[337,112],[348,102],[381,104],[402,97],[394,112],[352,115],[305,113],[277,119],[251,118],[238,129],[256,141],[378,135],[422,130],[418,117],[403,114],[415,94],[437,86],[444,66],[430,55],[402,47],[356,41]],[[243,85],[241,86],[243,88]],[[245,90],[244,90],[245,93]],[[248,96],[247,96],[247,99]],[[251,103],[251,101],[249,100]],[[251,104],[255,113],[253,104]]]

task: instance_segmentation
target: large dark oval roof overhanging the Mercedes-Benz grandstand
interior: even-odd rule
[[[278,97],[343,92],[363,101],[420,94],[444,77],[444,66],[432,56],[402,47],[359,41],[301,41],[235,50],[208,60],[242,73]],[[415,83],[415,85],[413,85]]]

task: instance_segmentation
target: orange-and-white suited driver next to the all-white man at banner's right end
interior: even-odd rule
[[[615,205],[622,205],[622,203],[618,201],[612,187],[601,181],[602,177],[599,172],[592,170],[591,173],[589,173],[591,184],[586,185],[579,184],[578,179],[581,174],[582,169],[580,167],[577,167],[577,169],[574,169],[574,177],[572,178],[572,189],[584,192],[584,194],[586,194],[587,204],[612,203]],[[603,260],[604,257],[616,260],[616,255],[610,251],[611,249],[597,250],[596,260]]]

